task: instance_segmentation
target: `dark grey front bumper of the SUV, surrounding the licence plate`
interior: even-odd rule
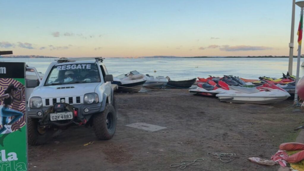
[[[69,107],[70,109],[74,108],[75,111],[77,111],[75,113],[74,111],[65,109],[65,111],[73,112],[73,119],[72,119],[71,123],[73,121],[76,121],[76,122],[80,121],[83,124],[85,124],[91,118],[92,114],[100,113],[105,109],[105,103],[103,103],[103,102],[90,104],[90,105],[85,105],[85,104],[70,105],[70,104],[67,104],[67,103],[56,103],[53,106],[42,107],[40,109],[29,108],[28,109],[28,116],[31,117],[31,118],[39,119],[41,121],[41,124],[45,124],[45,125],[55,124],[56,122],[51,121],[51,119],[50,119],[50,113],[56,113],[56,111],[54,110],[54,107],[57,104],[64,104],[65,106],[70,106]],[[68,124],[71,124],[71,123],[68,123]],[[65,125],[67,125],[67,124],[65,124]]]

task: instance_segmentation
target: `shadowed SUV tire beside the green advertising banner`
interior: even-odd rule
[[[38,119],[27,118],[27,139],[30,145],[42,145],[51,137],[50,130],[39,127]]]

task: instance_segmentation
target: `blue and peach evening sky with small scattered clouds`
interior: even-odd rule
[[[292,0],[0,0],[0,51],[54,57],[288,56]],[[300,8],[295,13],[295,48]]]

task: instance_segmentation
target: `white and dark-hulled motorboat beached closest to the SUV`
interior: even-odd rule
[[[128,74],[114,77],[112,84],[118,85],[117,91],[119,92],[139,92],[146,81],[145,75],[137,71],[131,71]]]

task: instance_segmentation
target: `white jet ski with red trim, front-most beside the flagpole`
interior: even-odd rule
[[[268,83],[253,88],[239,86],[229,86],[229,88],[229,91],[218,93],[216,97],[222,102],[253,104],[277,103],[290,97],[284,89]]]

